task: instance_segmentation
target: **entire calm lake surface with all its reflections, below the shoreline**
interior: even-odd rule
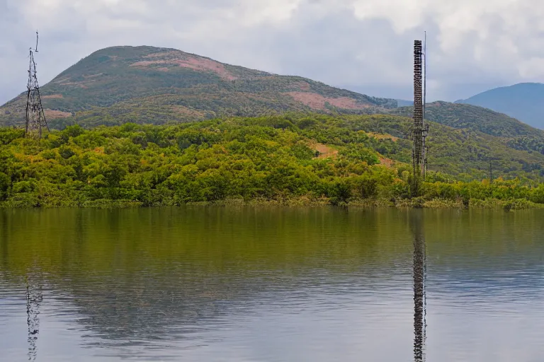
[[[0,361],[543,361],[543,220],[0,210]]]

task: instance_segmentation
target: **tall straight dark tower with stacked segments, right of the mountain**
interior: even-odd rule
[[[425,35],[426,37],[426,35]],[[414,190],[419,188],[419,180],[425,180],[427,168],[426,137],[429,124],[424,124],[426,101],[426,59],[421,49],[421,40],[414,41],[414,124],[412,125],[412,165],[414,168]],[[426,58],[426,57],[425,57]],[[425,60],[425,62],[424,62]]]

